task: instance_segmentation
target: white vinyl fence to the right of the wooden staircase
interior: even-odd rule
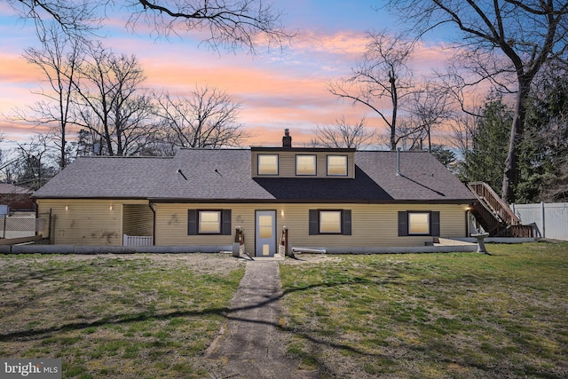
[[[523,225],[535,224],[535,237],[568,241],[568,202],[511,204]]]

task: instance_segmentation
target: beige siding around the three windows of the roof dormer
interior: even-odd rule
[[[347,155],[347,176],[334,178],[354,178],[355,176],[355,155],[351,152],[331,151],[253,151],[251,152],[251,175],[253,178],[258,177],[258,154],[274,154],[279,156],[278,177],[280,178],[329,178],[327,176],[327,155]],[[316,155],[316,176],[296,175],[296,155]]]

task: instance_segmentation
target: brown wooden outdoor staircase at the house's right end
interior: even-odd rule
[[[476,195],[477,201],[471,204],[471,213],[479,225],[492,237],[533,237],[533,225],[521,225],[521,221],[511,209],[484,182],[467,185]]]

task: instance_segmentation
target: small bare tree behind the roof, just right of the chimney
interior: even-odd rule
[[[375,142],[375,130],[367,129],[365,117],[359,122],[349,123],[342,115],[333,124],[317,126],[313,131],[310,146],[347,147],[363,149]]]

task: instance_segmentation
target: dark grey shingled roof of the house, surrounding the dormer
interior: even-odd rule
[[[432,155],[355,153],[355,178],[252,178],[249,149],[188,149],[174,157],[82,157],[34,197],[151,201],[469,202],[473,195]],[[185,179],[185,178],[186,179]]]

